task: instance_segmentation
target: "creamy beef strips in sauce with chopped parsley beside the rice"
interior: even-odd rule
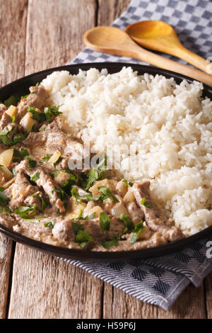
[[[1,104],[0,222],[61,247],[141,249],[181,239],[151,198],[150,182],[118,179],[100,159],[97,169],[70,170],[83,143],[61,129],[43,86],[18,106]]]

